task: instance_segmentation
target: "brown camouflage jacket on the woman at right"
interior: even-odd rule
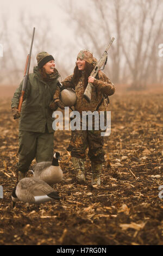
[[[65,78],[65,80],[62,82],[62,85],[65,88],[74,88],[77,95],[77,101],[76,105],[74,106],[75,110],[82,113],[82,111],[96,111],[97,106],[102,101],[104,95],[109,96],[114,94],[115,92],[115,86],[114,84],[109,80],[108,77],[102,72],[98,72],[98,79],[95,79],[93,82],[93,88],[92,88],[92,95],[91,95],[91,102],[87,102],[84,99],[84,76],[80,77],[80,80],[78,84],[73,83],[72,79],[73,75],[70,75]],[[59,89],[57,88],[55,93],[55,98],[59,97]],[[105,111],[107,107],[106,100],[103,100],[101,105],[98,108],[99,111]]]

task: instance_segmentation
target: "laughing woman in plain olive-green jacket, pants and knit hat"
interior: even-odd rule
[[[52,128],[52,109],[49,103],[57,88],[60,77],[55,69],[54,58],[47,52],[37,54],[37,66],[29,74],[21,113],[18,102],[21,96],[22,82],[11,102],[14,118],[19,118],[19,159],[17,163],[18,180],[26,177],[33,159],[37,162],[52,161],[54,130]]]

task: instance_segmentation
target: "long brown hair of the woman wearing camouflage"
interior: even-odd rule
[[[93,65],[91,65],[88,62],[85,62],[85,70],[84,70],[84,87],[85,88],[87,86],[87,83],[88,83],[87,80],[88,80],[88,78],[89,78],[93,68],[94,68]],[[73,77],[72,77],[73,78],[73,82],[74,82],[75,85],[78,84],[79,79],[80,79],[81,76],[82,76],[82,71],[80,71],[78,69],[78,66],[76,64],[76,66],[74,68],[74,71],[73,71]]]

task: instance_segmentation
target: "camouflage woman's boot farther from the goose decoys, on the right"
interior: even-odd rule
[[[91,167],[92,167],[91,184],[93,187],[100,187],[101,186],[100,174],[102,170],[102,163],[91,162]]]

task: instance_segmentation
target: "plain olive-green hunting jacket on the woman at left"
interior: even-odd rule
[[[58,78],[60,77],[57,69],[55,69],[54,74],[52,81],[44,81],[36,66],[34,67],[34,72],[28,75],[28,83],[19,120],[20,131],[44,133],[48,129],[49,133],[54,132],[52,128],[54,121],[54,118],[52,118],[53,111],[49,108],[49,103],[53,100]],[[23,81],[16,89],[11,101],[11,108],[18,108],[22,84]]]

